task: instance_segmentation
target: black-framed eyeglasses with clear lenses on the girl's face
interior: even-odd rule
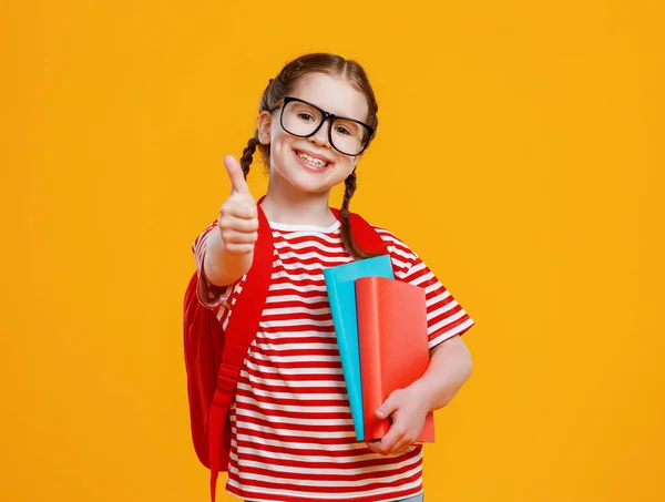
[[[329,119],[328,140],[335,150],[345,155],[360,155],[374,134],[374,129],[364,122],[337,116],[298,98],[286,96],[279,100],[270,113],[279,105],[283,105],[279,116],[282,129],[297,137],[315,135]]]

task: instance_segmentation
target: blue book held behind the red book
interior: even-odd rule
[[[356,439],[365,441],[360,352],[358,350],[356,279],[360,277],[386,277],[393,279],[390,256],[381,255],[325,268],[324,277],[328,289],[330,313],[332,314],[341,369],[351,407]]]

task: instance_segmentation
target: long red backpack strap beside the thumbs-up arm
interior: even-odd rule
[[[254,247],[254,259],[243,285],[243,300],[236,301],[224,335],[224,351],[217,375],[217,387],[209,414],[211,498],[215,501],[217,475],[226,470],[231,444],[228,410],[235,395],[241,368],[247,350],[258,331],[258,322],[268,295],[273,273],[273,232],[257,204],[258,239]],[[250,298],[246,298],[250,294]]]

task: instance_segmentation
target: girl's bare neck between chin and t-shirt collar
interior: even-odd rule
[[[273,183],[272,180],[260,208],[274,223],[327,227],[336,222],[328,207],[329,194],[329,191],[306,193],[288,183]]]

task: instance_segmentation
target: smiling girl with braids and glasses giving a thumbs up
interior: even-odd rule
[[[468,379],[460,338],[473,320],[405,243],[388,244],[396,278],[426,289],[431,361],[423,377],[376,411],[392,426],[359,443],[352,421],[323,269],[368,256],[354,242],[349,203],[356,170],[377,130],[378,105],[362,68],[334,54],[307,54],[270,79],[257,127],[241,162],[224,162],[232,192],[218,218],[194,242],[200,300],[226,326],[257,239],[257,203],[246,176],[258,148],[269,166],[260,201],[274,236],[274,264],[258,332],[231,408],[226,490],[265,502],[421,501],[424,417]],[[330,189],[344,183],[340,221]]]

